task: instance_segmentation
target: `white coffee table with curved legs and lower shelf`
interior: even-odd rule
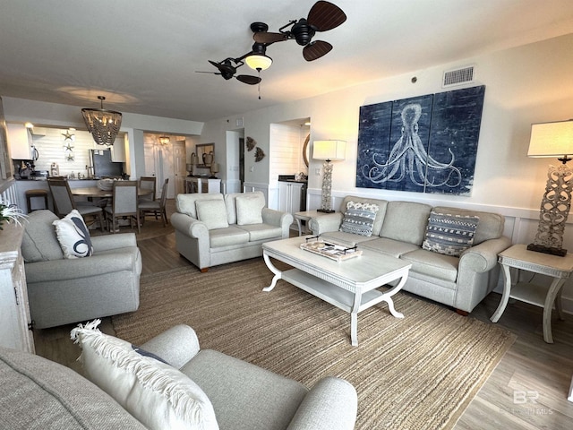
[[[275,274],[269,287],[263,288],[263,291],[271,291],[278,280],[286,280],[346,311],[350,314],[350,339],[353,346],[358,345],[358,313],[364,309],[386,302],[390,314],[404,318],[394,308],[392,296],[406,283],[411,264],[366,249],[358,257],[336,262],[304,251],[300,248],[304,241],[303,236],[262,245],[264,261]],[[270,261],[271,257],[286,262],[294,269],[279,271]],[[385,291],[376,289],[394,280],[399,280],[395,287]]]

